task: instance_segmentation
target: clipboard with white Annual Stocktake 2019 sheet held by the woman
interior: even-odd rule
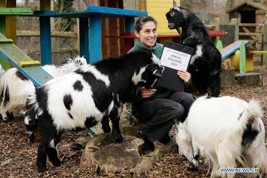
[[[182,92],[185,82],[177,75],[179,69],[188,71],[194,49],[165,40],[160,61],[165,67],[157,86]],[[164,59],[162,59],[164,57]],[[167,59],[168,58],[168,59]]]

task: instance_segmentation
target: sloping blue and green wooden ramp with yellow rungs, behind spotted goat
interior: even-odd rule
[[[47,81],[53,79],[53,77],[47,73],[41,66],[28,66],[20,67],[18,63],[20,61],[33,61],[23,51],[21,51],[12,42],[13,40],[7,39],[3,34],[0,33],[0,55],[4,56],[8,62],[16,67],[23,75],[25,75],[33,84],[37,87],[42,86]],[[96,133],[103,133],[101,129],[102,125],[99,122],[95,127],[88,129],[88,132],[94,136]]]

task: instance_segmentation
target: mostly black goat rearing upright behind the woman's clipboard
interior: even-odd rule
[[[196,89],[204,95],[208,93],[207,87],[210,87],[211,96],[218,97],[222,56],[203,23],[192,11],[178,7],[175,1],[173,8],[166,13],[166,18],[169,29],[176,29],[181,34],[181,44],[194,48],[189,72]]]

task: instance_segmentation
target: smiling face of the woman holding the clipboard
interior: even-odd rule
[[[134,33],[139,38],[141,44],[150,49],[154,46],[158,37],[157,26],[152,21],[144,23],[139,33],[136,30]]]

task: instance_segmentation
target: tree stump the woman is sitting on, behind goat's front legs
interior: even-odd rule
[[[124,119],[126,116],[126,111],[120,114],[120,131],[121,133],[129,136],[136,136],[139,128],[144,125],[138,119],[134,118],[134,125],[129,125],[129,120]]]

